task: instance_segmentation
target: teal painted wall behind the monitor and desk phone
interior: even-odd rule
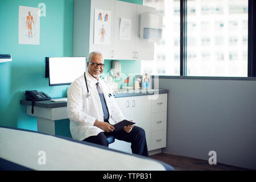
[[[102,0],[103,1],[103,0]],[[40,17],[40,45],[18,44],[19,6],[46,4],[46,17]],[[141,4],[143,0],[126,0]],[[37,130],[35,117],[26,115],[20,105],[25,90],[39,90],[51,97],[66,97],[68,86],[48,86],[44,77],[45,57],[72,56],[73,0],[1,0],[0,53],[10,53],[13,61],[0,63],[0,126]],[[88,25],[89,26],[89,25]],[[105,72],[111,60],[106,60]],[[121,61],[122,72],[141,72],[141,61]],[[119,85],[123,80],[119,80]],[[55,122],[56,134],[70,137],[68,119]]]

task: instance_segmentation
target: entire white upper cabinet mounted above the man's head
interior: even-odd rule
[[[94,10],[111,11],[109,45],[94,44]],[[154,43],[139,37],[139,14],[155,12],[155,8],[116,0],[75,0],[73,24],[73,56],[101,52],[104,59],[154,60]],[[131,19],[129,40],[119,39],[121,18]]]

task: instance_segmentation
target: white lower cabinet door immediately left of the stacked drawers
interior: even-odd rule
[[[151,100],[147,96],[130,97],[130,118],[136,126],[142,127],[146,133],[147,147],[150,150]]]

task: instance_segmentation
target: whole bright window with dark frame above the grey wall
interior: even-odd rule
[[[142,73],[213,77],[255,75],[253,30],[256,23],[251,12],[256,3],[253,0],[143,2],[163,15],[164,28],[162,40],[155,44],[154,60],[142,60]],[[180,9],[181,5],[185,6],[187,14]],[[185,22],[181,21],[180,13]],[[184,36],[180,37],[182,33]]]

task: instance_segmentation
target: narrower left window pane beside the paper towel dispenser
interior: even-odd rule
[[[144,0],[143,5],[156,8],[156,13],[163,15],[163,36],[155,43],[154,60],[142,60],[141,72],[151,75],[180,75],[180,1]],[[195,7],[191,10],[195,14]],[[191,23],[191,27],[195,27]],[[193,40],[191,41],[193,43]]]

